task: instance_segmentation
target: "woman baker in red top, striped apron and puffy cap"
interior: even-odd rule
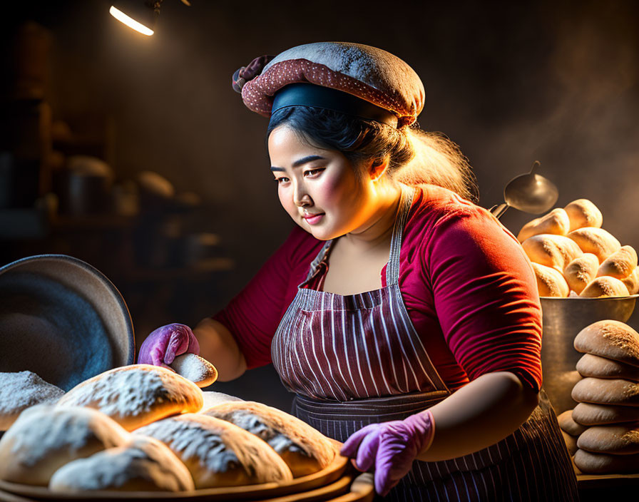
[[[471,202],[456,145],[416,126],[416,73],[378,48],[310,43],[255,59],[234,87],[270,117],[297,226],[225,309],[155,330],[138,362],[199,350],[223,381],[272,362],[293,413],[390,500],[576,500],[539,394],[531,264]]]

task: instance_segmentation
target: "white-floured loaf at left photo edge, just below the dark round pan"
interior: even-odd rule
[[[6,431],[19,414],[35,404],[53,404],[64,394],[34,372],[0,373],[0,431]]]

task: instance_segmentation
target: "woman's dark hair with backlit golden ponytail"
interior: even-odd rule
[[[446,136],[427,133],[419,126],[394,128],[377,121],[310,106],[290,106],[273,113],[266,138],[272,130],[287,126],[302,141],[317,148],[338,150],[354,166],[362,160],[389,157],[388,175],[409,185],[431,183],[462,197],[478,199],[474,175],[459,147]],[[362,170],[356,169],[358,175]]]

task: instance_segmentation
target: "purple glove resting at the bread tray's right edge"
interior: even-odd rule
[[[430,448],[435,422],[429,410],[381,424],[370,424],[352,434],[341,454],[355,459],[355,467],[374,467],[375,491],[386,496],[410,471],[415,457]]]

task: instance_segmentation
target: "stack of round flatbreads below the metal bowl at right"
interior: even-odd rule
[[[639,472],[639,334],[605,320],[581,330],[578,402],[558,416],[568,451],[584,473]]]

